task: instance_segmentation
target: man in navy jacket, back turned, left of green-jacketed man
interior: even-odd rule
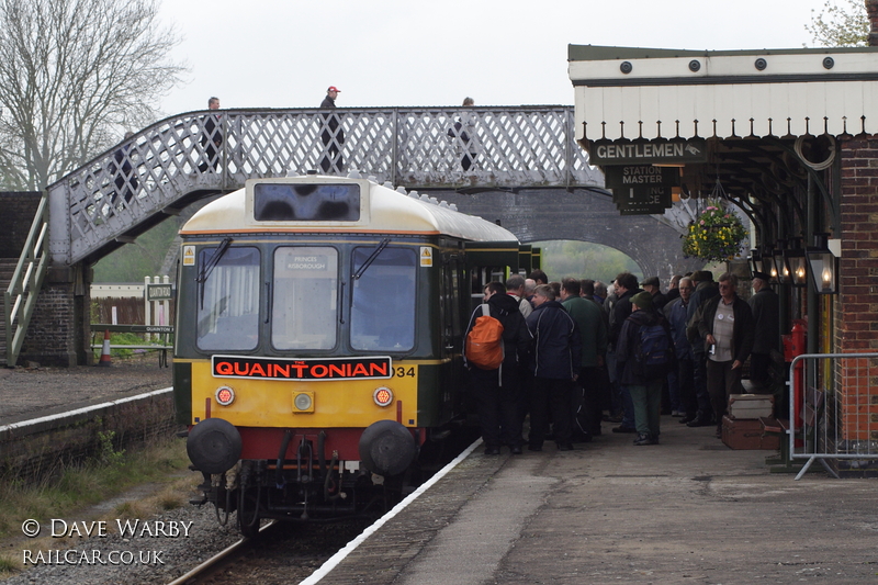
[[[551,410],[558,449],[570,451],[573,449],[573,384],[582,362],[579,329],[564,306],[555,301],[555,293],[548,284],[537,286],[533,304],[536,308],[527,319],[533,336],[528,449],[542,451]]]

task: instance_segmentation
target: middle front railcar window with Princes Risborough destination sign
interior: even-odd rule
[[[338,327],[338,251],[296,246],[274,251],[271,345],[333,349]]]

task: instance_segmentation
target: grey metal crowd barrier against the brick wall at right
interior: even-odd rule
[[[878,353],[807,353],[790,363],[789,453],[840,472],[878,470]]]

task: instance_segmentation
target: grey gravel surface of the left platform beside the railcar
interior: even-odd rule
[[[0,425],[171,385],[171,368],[159,368],[156,353],[114,359],[109,368],[0,368]]]

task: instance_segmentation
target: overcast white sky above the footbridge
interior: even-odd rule
[[[160,108],[573,104],[567,44],[812,46],[824,0],[164,0],[190,70]]]

